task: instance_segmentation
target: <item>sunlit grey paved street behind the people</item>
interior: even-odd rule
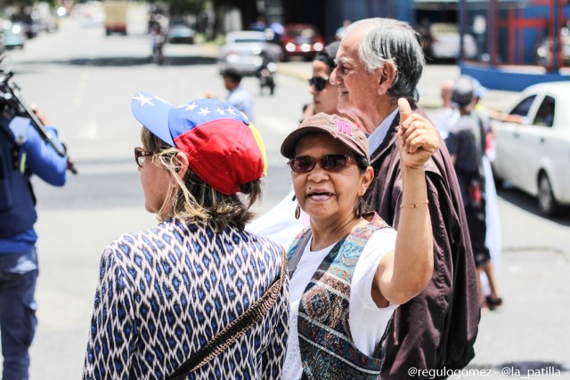
[[[65,26],[61,33],[66,33]],[[69,33],[92,37],[76,29]],[[19,83],[27,95],[39,76],[45,89],[63,87],[58,82],[61,78],[46,76],[41,71],[43,67],[30,63],[42,61],[41,54],[47,54],[42,49],[62,38],[39,38],[44,37],[31,44],[31,55],[22,59],[27,65],[21,70]],[[117,44],[125,50],[117,53],[117,57],[99,57],[97,64],[89,61],[82,65],[77,63],[80,59],[97,58],[89,55],[94,54],[90,50],[95,43],[85,44],[85,53],[77,53],[75,61],[70,63],[64,61],[67,65],[61,64],[63,69],[57,65],[58,60],[63,61],[61,58],[45,59],[50,73],[65,72],[69,75],[66,82],[83,89],[83,93],[77,92],[81,96],[69,99],[57,98],[57,91],[38,96],[41,98],[38,102],[46,109],[69,105],[65,112],[50,113],[56,124],[67,125],[62,126],[68,129],[63,129],[61,135],[70,136],[69,147],[77,158],[80,173],[64,189],[36,184],[40,277],[39,326],[31,350],[33,379],[80,378],[102,249],[126,231],[156,223],[144,211],[142,190],[131,158],[138,134],[128,111],[129,96],[140,88],[157,89],[173,98],[188,93],[199,96],[205,89],[223,91],[216,69],[201,64],[208,61],[204,56],[211,55],[211,50],[204,52],[199,46],[192,46],[191,54],[195,56],[188,58],[182,48],[172,47],[167,56],[170,54],[176,63],[158,71],[154,65],[142,63],[144,58],[137,58],[139,52],[135,49],[147,47],[141,36],[134,36],[128,44],[113,37],[104,43]],[[110,62],[120,61],[121,54],[130,57],[127,58],[131,63],[113,67]],[[432,118],[439,111],[439,85],[444,79],[458,75],[455,66],[428,65],[419,84],[420,106]],[[297,123],[299,104],[308,99],[305,81],[297,79],[309,76],[307,62],[280,64],[277,100],[256,98],[259,117],[256,125],[262,129],[270,158],[268,191],[264,203],[257,208],[259,213],[271,208],[289,191],[288,171],[277,148],[291,125]],[[103,80],[104,92],[96,90]],[[250,91],[256,91],[255,81],[247,81],[246,85]],[[36,88],[41,87],[36,84]],[[516,93],[490,91],[484,104],[504,109],[515,96]],[[284,106],[289,110],[283,111]],[[106,124],[89,121],[99,120],[96,117],[100,114],[104,114],[102,120]],[[122,128],[123,125],[126,127]],[[127,148],[128,157],[123,154]],[[468,367],[470,371],[450,378],[570,379],[570,217],[543,218],[533,198],[513,189],[499,191],[499,207],[503,252],[496,270],[505,303],[498,310],[482,315],[476,358]]]

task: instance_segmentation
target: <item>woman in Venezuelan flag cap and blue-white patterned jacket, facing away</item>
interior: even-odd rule
[[[223,101],[131,101],[147,211],[105,248],[84,379],[279,378],[288,335],[281,246],[244,230],[265,148]],[[244,203],[247,202],[247,203]]]

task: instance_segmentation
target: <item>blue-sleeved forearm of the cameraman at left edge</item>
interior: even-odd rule
[[[53,139],[57,139],[57,130],[47,127],[53,134]],[[45,142],[36,128],[28,126],[28,138],[22,145],[22,150],[27,153],[27,164],[33,174],[37,174],[45,182],[53,186],[63,186],[67,179],[68,159],[61,157],[53,147]]]

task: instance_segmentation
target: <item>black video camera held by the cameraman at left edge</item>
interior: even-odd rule
[[[77,174],[77,170],[69,161],[65,145],[58,143],[58,141],[53,138],[52,133],[50,133],[44,123],[36,116],[36,112],[30,109],[28,103],[22,99],[20,86],[12,81],[13,72],[12,69],[8,68],[10,65],[6,65],[7,61],[9,60],[6,59],[5,55],[0,56],[0,114],[7,119],[12,119],[12,117],[16,116],[28,117],[42,139],[52,146],[53,150],[61,157],[68,158],[69,171],[73,174]]]

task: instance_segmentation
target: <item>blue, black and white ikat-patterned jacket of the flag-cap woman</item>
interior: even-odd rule
[[[264,294],[281,246],[177,220],[129,233],[102,255],[84,379],[164,379]],[[189,379],[277,379],[289,282],[265,318]]]

